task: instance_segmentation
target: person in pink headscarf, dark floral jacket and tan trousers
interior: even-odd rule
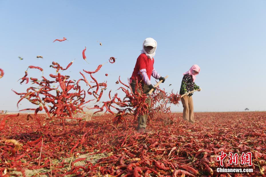
[[[201,88],[195,84],[196,75],[201,71],[198,65],[193,65],[186,73],[183,73],[184,77],[182,79],[179,94],[187,94],[181,98],[183,104],[183,119],[190,123],[194,123],[194,107],[192,94],[188,92],[197,90],[201,91]]]

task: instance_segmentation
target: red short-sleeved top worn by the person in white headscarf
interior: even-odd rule
[[[148,75],[148,78],[150,79],[153,70],[153,63],[154,59],[151,60],[150,58],[147,57],[145,53],[140,54],[140,56],[138,56],[134,71],[130,79],[135,80],[135,77],[137,77],[138,81],[141,81],[142,80],[142,77],[140,76],[141,69],[146,69],[146,73]]]

